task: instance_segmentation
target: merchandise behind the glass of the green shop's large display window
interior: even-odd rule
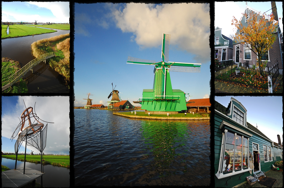
[[[248,139],[227,132],[225,134],[224,157],[222,162],[222,173],[227,174],[248,168]]]

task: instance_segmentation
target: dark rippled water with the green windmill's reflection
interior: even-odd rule
[[[112,112],[74,109],[76,186],[209,186],[209,120],[138,120]]]

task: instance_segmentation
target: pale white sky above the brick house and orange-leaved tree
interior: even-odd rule
[[[275,2],[276,8],[277,8],[277,14],[278,18],[281,18],[279,20],[279,26],[281,28],[281,32],[283,33],[283,24],[282,24],[282,15],[283,15],[283,8],[282,8],[282,2]],[[261,13],[265,14],[271,14],[271,1],[267,2],[248,2],[248,6],[252,9],[259,11]],[[233,8],[232,8],[233,7]],[[215,22],[214,26],[215,28],[218,26],[222,28],[222,34],[225,36],[229,36],[229,34],[233,34],[234,26],[231,25],[233,16],[237,20],[240,20],[242,18],[242,13],[246,9],[246,2],[233,2],[233,1],[226,1],[226,2],[215,2]],[[225,14],[224,14],[225,13]]]

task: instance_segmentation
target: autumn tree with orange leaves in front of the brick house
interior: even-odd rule
[[[243,15],[245,15],[244,19],[246,19],[247,13]],[[268,16],[268,18],[266,19],[264,14],[250,13],[249,19],[245,23],[246,26],[241,23],[242,19],[238,21],[233,16],[232,20],[232,25],[237,29],[235,40],[243,45],[250,44],[246,45],[246,47],[257,54],[259,67],[261,67],[261,57],[272,47],[276,39],[273,33],[277,29],[278,22],[273,19],[273,14]],[[263,76],[261,68],[260,74]]]

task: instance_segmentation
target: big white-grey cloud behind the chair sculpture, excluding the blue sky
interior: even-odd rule
[[[2,97],[3,98],[3,97]],[[26,107],[24,105],[24,102]],[[36,102],[36,105],[35,105]],[[2,102],[2,106],[5,103]],[[35,105],[35,108],[34,108]],[[14,111],[10,114],[5,114],[2,112],[2,131],[1,135],[3,137],[11,138],[12,133],[15,131],[16,127],[20,123],[20,115],[29,106],[33,107],[33,112],[41,119],[39,120],[43,124],[48,124],[47,126],[47,139],[45,153],[55,153],[61,152],[69,154],[69,136],[70,136],[70,103],[69,97],[55,96],[55,97],[36,97],[36,96],[24,96],[18,97],[18,101],[15,106],[11,106]],[[54,122],[54,123],[46,123]],[[25,124],[25,127],[27,125]],[[18,129],[16,130],[16,134]],[[13,143],[15,140],[13,140]],[[54,143],[59,143],[59,145],[64,147],[58,147],[53,149]],[[22,145],[23,146],[23,145]],[[68,147],[66,147],[68,146]],[[34,147],[27,146],[28,150],[36,150]],[[36,150],[37,151],[37,150]]]

